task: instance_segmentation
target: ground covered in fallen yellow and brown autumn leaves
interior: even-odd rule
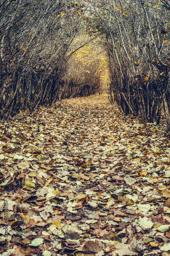
[[[0,254],[170,250],[170,140],[107,95],[0,123]]]

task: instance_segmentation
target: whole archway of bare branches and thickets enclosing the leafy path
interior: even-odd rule
[[[108,84],[125,114],[170,129],[167,1],[3,0],[0,18],[1,118]]]

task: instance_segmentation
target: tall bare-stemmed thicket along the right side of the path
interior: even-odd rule
[[[93,25],[108,52],[110,100],[142,122],[170,129],[169,3],[112,0],[93,3]]]

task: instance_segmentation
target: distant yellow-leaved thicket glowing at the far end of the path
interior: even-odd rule
[[[63,77],[63,84],[66,90],[70,90],[67,90],[65,97],[82,97],[102,92],[101,78],[107,65],[101,63],[105,56],[96,44],[98,40],[93,40],[92,44],[84,46],[68,60],[69,68]]]

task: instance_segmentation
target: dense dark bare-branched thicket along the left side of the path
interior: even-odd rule
[[[0,3],[0,118],[69,97],[72,87],[79,88],[74,96],[86,95],[87,83],[66,82],[65,76],[84,5],[58,0]]]

